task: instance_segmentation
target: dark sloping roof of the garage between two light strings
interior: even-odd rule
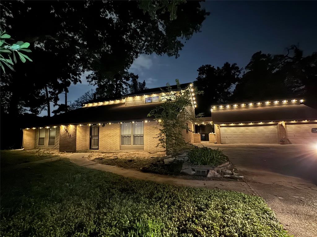
[[[215,124],[316,120],[317,110],[303,104],[252,109],[224,109],[212,111],[211,118]]]

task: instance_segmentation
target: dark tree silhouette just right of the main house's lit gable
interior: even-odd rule
[[[199,90],[204,91],[204,94],[197,96],[197,111],[209,114],[210,105],[229,100],[232,86],[240,79],[241,69],[237,64],[227,62],[221,68],[209,64],[202,65],[197,71],[198,76],[194,84]]]

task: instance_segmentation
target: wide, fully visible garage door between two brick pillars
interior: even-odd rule
[[[220,127],[221,143],[277,143],[277,125]]]

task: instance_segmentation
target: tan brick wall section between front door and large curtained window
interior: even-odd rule
[[[99,126],[99,150],[120,150],[120,124]]]

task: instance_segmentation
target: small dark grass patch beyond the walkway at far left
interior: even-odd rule
[[[1,165],[18,165],[27,163],[30,161],[40,161],[55,157],[57,155],[51,155],[41,150],[29,150],[29,151],[15,151],[15,150],[1,150],[0,161]]]

